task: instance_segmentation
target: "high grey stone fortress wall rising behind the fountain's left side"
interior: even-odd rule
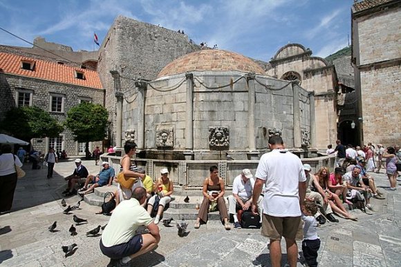
[[[98,71],[106,89],[106,108],[110,110],[111,140],[115,144],[115,90],[110,70],[120,74],[119,90],[124,97],[134,90],[136,79],[156,79],[158,72],[174,59],[200,48],[186,34],[127,17],[117,17],[100,47]],[[124,103],[127,101],[124,100]],[[132,128],[129,105],[124,108],[124,130]],[[135,113],[135,111],[133,111]],[[135,114],[133,114],[135,115]]]

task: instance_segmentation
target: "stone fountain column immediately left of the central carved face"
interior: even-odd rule
[[[194,75],[185,73],[187,78],[187,111],[185,121],[185,148],[187,150],[186,157],[192,157],[188,153],[194,150]]]

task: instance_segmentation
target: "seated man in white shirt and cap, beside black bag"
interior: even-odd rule
[[[228,213],[234,217],[234,228],[241,228],[236,215],[236,207],[239,206],[242,210],[251,210],[252,208],[252,189],[254,184],[255,180],[249,169],[243,169],[241,174],[235,177],[232,182],[232,195],[228,196]],[[259,196],[257,202],[259,215],[263,214],[262,200],[263,197]]]

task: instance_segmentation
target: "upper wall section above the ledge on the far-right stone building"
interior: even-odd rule
[[[357,65],[401,58],[400,12],[399,5],[393,10],[357,19],[360,50]]]

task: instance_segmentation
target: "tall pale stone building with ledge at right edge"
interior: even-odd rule
[[[401,144],[401,1],[365,0],[351,9],[352,60],[363,144]]]

